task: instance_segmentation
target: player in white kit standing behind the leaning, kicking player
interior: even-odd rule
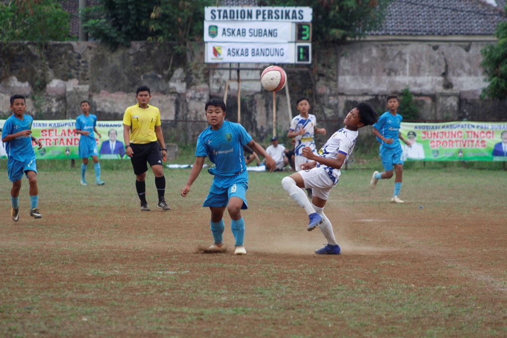
[[[315,115],[309,114],[310,107],[310,99],[307,97],[300,97],[296,101],[299,115],[292,119],[291,127],[287,134],[287,138],[296,138],[296,145],[294,147],[294,165],[296,171],[301,170],[303,163],[310,162],[308,158],[303,156],[303,148],[309,147],[315,153],[315,134],[325,135],[324,128],[317,128],[317,118]],[[307,192],[308,197],[312,198],[311,189],[308,189]]]

